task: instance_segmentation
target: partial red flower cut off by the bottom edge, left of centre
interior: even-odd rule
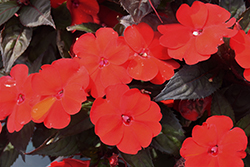
[[[49,167],[89,167],[90,161],[81,161],[78,159],[66,158],[61,162],[54,161]]]

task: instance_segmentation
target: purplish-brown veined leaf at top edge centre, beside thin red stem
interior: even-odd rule
[[[120,0],[120,3],[133,20],[139,23],[144,16],[153,11],[149,1],[152,2],[154,8],[161,2],[160,0]]]

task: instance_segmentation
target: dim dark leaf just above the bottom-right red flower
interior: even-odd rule
[[[212,115],[227,115],[235,122],[234,110],[227,99],[220,93],[213,94],[211,104]]]

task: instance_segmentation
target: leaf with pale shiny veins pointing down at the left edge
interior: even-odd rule
[[[32,38],[32,29],[22,26],[17,18],[6,23],[0,35],[3,65],[9,72],[16,59],[27,49]]]

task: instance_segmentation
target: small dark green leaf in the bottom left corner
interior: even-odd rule
[[[10,167],[17,159],[19,151],[17,151],[10,143],[5,147],[4,152],[0,156],[0,167]]]

